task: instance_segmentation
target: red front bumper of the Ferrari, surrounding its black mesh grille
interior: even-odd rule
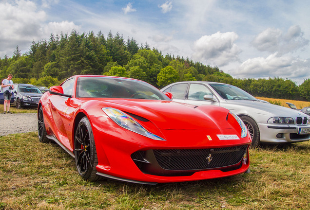
[[[219,178],[242,174],[249,169],[249,136],[237,141],[216,137],[216,134],[233,134],[232,129],[166,130],[162,132],[168,138],[161,141],[120,129],[103,118],[92,122],[97,175],[152,184]],[[223,152],[223,148],[227,149]],[[225,158],[218,163],[217,158],[221,157]],[[163,163],[159,158],[165,158]],[[193,168],[196,161],[201,164]]]

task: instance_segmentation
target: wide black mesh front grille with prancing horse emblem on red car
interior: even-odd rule
[[[137,167],[151,175],[192,175],[197,171],[235,170],[248,145],[214,149],[160,149],[137,151],[131,155]]]

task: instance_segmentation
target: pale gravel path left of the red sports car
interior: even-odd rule
[[[0,136],[38,130],[37,113],[0,113]]]

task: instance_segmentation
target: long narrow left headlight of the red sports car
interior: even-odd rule
[[[102,110],[119,126],[133,131],[142,136],[148,137],[153,140],[164,140],[155,134],[147,131],[140,123],[136,122],[132,117],[116,108],[102,108]]]

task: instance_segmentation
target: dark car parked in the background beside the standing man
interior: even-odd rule
[[[43,93],[34,85],[30,84],[14,84],[13,92],[15,93],[14,102],[16,108],[22,107],[38,107],[39,100]]]

